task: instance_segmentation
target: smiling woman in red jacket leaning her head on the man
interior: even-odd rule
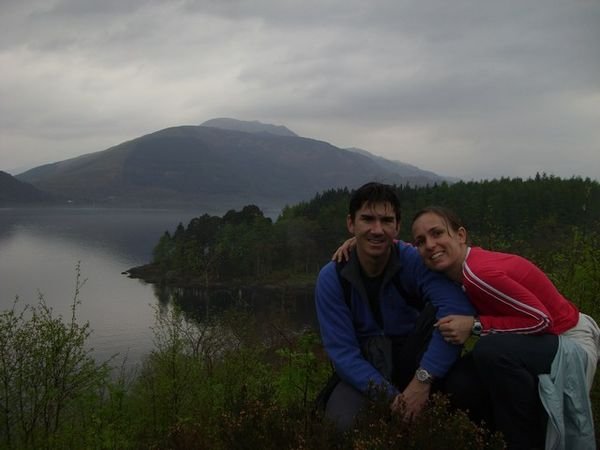
[[[458,387],[450,391],[468,398],[467,391],[481,389],[491,400],[495,427],[509,448],[538,446],[546,428],[545,420],[540,421],[544,415],[538,376],[551,373],[558,336],[563,335],[575,340],[587,355],[583,357],[587,389],[579,390],[589,409],[587,392],[596,369],[600,334],[591,317],[581,314],[532,262],[470,247],[466,229],[446,208],[419,211],[412,233],[425,264],[460,283],[478,313],[477,317],[447,316],[436,324],[444,338],[455,344],[463,344],[471,335],[482,337],[459,362],[461,370],[449,380]],[[339,251],[336,255],[339,258]],[[591,439],[590,448],[594,448],[593,427],[586,433],[591,437],[580,437],[584,442]]]

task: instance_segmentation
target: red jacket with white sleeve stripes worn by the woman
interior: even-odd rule
[[[518,255],[468,249],[463,289],[489,333],[562,334],[579,320],[577,307],[531,261]]]

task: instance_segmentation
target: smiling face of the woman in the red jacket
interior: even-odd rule
[[[466,230],[462,227],[457,231],[450,230],[443,217],[428,212],[413,222],[412,233],[425,265],[460,281],[466,255]]]

